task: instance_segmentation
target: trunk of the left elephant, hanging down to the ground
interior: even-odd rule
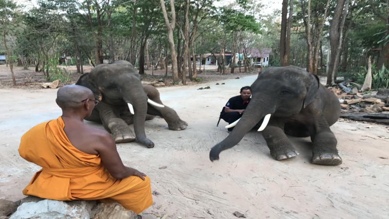
[[[141,85],[140,85],[141,86]],[[154,147],[154,143],[146,137],[144,131],[144,121],[147,115],[147,96],[143,92],[143,88],[132,87],[132,89],[124,90],[123,99],[127,105],[132,105],[134,114],[134,131],[137,141],[147,147]],[[130,108],[130,106],[128,106]],[[131,109],[130,109],[131,111]]]

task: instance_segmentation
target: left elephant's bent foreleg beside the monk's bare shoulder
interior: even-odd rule
[[[127,123],[119,118],[113,110],[100,110],[100,118],[102,118],[104,128],[112,134],[115,143],[132,142],[135,140],[135,135]]]

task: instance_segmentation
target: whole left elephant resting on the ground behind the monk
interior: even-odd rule
[[[102,123],[116,143],[137,140],[148,148],[154,147],[146,137],[144,123],[155,116],[162,117],[171,130],[188,126],[175,110],[163,105],[155,87],[142,86],[141,75],[127,61],[97,65],[81,75],[76,84],[89,88],[100,101],[86,120]],[[134,124],[135,136],[130,124]]]

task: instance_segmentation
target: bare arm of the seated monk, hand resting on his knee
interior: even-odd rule
[[[96,146],[95,150],[100,154],[101,163],[106,167],[112,177],[115,179],[124,179],[129,176],[138,176],[144,180],[143,176],[146,176],[144,173],[141,173],[134,168],[124,166],[116,149],[116,144],[108,133],[100,136],[99,140],[99,144]]]

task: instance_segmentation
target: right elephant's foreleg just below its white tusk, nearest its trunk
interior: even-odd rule
[[[263,136],[270,149],[270,155],[275,160],[284,160],[299,154],[283,132],[283,126],[284,124],[281,121],[272,119],[263,131]]]

